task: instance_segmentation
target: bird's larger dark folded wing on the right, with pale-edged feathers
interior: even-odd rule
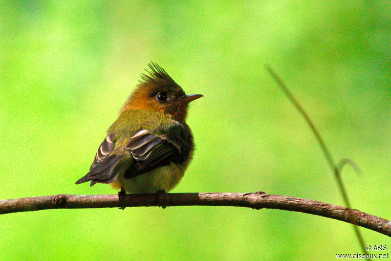
[[[184,162],[189,156],[189,145],[183,132],[184,128],[179,123],[164,134],[150,130],[136,131],[125,146],[135,162],[124,177],[132,178],[170,162]]]

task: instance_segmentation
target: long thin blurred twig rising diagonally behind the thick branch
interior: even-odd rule
[[[340,192],[342,194],[342,198],[344,200],[345,206],[347,206],[347,208],[350,209],[351,207],[350,207],[350,203],[348,200],[348,194],[346,193],[344,183],[342,182],[342,179],[341,179],[341,172],[340,172],[341,169],[338,168],[338,166],[335,164],[335,161],[332,158],[331,153],[329,152],[329,150],[326,146],[326,143],[323,141],[323,138],[321,137],[319,131],[315,128],[315,125],[313,124],[312,120],[309,118],[308,114],[305,112],[305,110],[300,105],[298,100],[296,100],[296,98],[290,92],[289,88],[282,82],[281,78],[269,66],[266,66],[266,69],[269,71],[269,73],[272,75],[274,80],[277,82],[278,86],[282,89],[282,91],[285,93],[285,95],[288,97],[288,99],[292,102],[292,104],[296,107],[296,109],[303,115],[305,121],[307,122],[307,124],[311,128],[311,131],[314,133],[323,153],[325,154],[325,157],[326,157],[328,165],[330,166],[331,172],[334,173],[334,176],[337,180],[338,187],[340,188]],[[340,166],[342,167],[343,164]],[[368,254],[368,251],[365,248],[364,239],[360,233],[360,230],[358,229],[357,226],[354,225],[355,224],[354,222],[351,222],[351,223],[353,224],[354,232],[356,233],[357,239],[361,245],[361,248],[362,248],[364,254]]]

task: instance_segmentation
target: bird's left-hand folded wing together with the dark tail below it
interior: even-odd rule
[[[76,184],[91,181],[90,186],[95,183],[111,183],[117,178],[119,169],[117,164],[123,158],[123,155],[110,154],[114,149],[114,135],[110,133],[99,146],[96,152],[94,162],[89,168],[89,172],[76,181]]]

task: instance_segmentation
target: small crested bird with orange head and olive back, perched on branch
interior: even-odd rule
[[[203,95],[186,95],[162,67],[148,66],[76,184],[111,183],[121,200],[125,193],[168,192],[182,178],[194,151],[188,105]]]

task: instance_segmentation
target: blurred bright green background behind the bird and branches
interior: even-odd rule
[[[343,171],[352,206],[391,218],[389,1],[1,1],[0,198],[112,194],[75,185],[150,61],[195,101],[193,162],[172,192],[343,204],[290,86]],[[361,229],[368,244],[391,239]],[[347,223],[281,210],[157,207],[0,216],[1,260],[333,260]]]

